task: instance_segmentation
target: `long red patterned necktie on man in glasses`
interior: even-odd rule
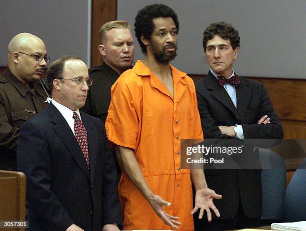
[[[73,119],[74,119],[74,134],[79,146],[84,154],[84,158],[87,163],[87,167],[89,169],[89,155],[88,155],[88,145],[87,145],[87,132],[85,129],[84,124],[79,119],[78,115],[73,112]]]

